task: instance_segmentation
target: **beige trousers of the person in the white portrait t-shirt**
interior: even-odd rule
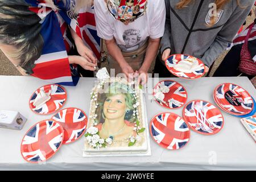
[[[122,55],[125,58],[126,62],[130,65],[131,68],[133,68],[134,71],[138,71],[139,68],[141,68],[146,55],[147,46],[148,42],[134,52],[122,52]],[[115,75],[117,75],[118,73],[122,73],[122,69],[117,63],[117,61],[115,61],[113,57],[110,55],[108,58],[109,68],[115,69]]]

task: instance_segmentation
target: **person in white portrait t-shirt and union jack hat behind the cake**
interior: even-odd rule
[[[113,3],[115,8],[108,6]],[[115,75],[138,76],[145,84],[164,34],[164,0],[95,0],[94,8],[97,34],[106,42],[110,69],[115,69]],[[117,9],[119,19],[113,15]]]

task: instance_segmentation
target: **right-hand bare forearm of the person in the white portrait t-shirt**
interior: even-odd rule
[[[148,40],[148,46],[146,50],[146,56],[144,58],[144,62],[142,64],[141,69],[143,69],[145,72],[150,69],[150,66],[152,62],[154,61],[156,54],[158,53],[160,44],[160,38],[159,39],[151,39]]]

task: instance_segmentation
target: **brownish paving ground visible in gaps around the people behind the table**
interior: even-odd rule
[[[255,16],[249,16],[246,20],[247,25],[249,25],[251,22],[253,22]],[[210,72],[210,76],[213,75],[214,71],[217,69],[218,65],[220,65],[221,61],[225,57],[226,53],[228,51],[225,51],[222,55],[218,57],[218,59],[215,61],[215,64],[213,66],[212,71]],[[104,63],[106,67],[108,65]],[[152,69],[154,68],[154,63],[151,66],[150,72],[152,72]],[[20,75],[20,73],[16,70],[13,64],[9,60],[7,60],[6,56],[0,51],[0,75]]]

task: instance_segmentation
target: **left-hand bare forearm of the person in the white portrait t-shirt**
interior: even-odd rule
[[[121,49],[117,46],[115,39],[105,40],[106,47],[109,51],[109,55],[114,58],[119,65],[127,64],[125,58],[122,55]]]

